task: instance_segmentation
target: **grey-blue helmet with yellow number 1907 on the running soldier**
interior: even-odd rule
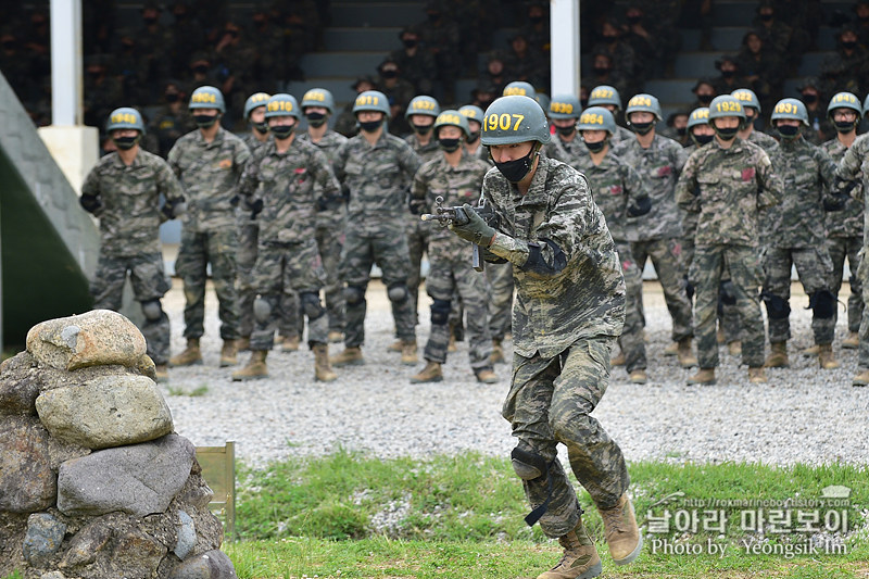
[[[482,118],[481,142],[489,147],[526,141],[550,142],[543,109],[534,99],[520,95],[495,99]]]

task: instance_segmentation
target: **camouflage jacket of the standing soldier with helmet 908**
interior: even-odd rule
[[[260,243],[302,243],[314,239],[317,203],[335,199],[341,187],[326,155],[297,139],[284,153],[269,141],[241,176],[239,192],[248,203],[259,199]]]

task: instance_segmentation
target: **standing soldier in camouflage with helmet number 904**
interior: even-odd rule
[[[187,198],[181,244],[175,270],[184,280],[187,349],[169,360],[172,366],[202,363],[199,339],[204,333],[206,267],[211,263],[219,302],[221,366],[237,364],[239,338],[236,293],[236,205],[238,180],[251,153],[244,142],[221,126],[224,98],[214,87],[199,87],[190,96],[190,111],[199,128],[175,143],[168,163]]]

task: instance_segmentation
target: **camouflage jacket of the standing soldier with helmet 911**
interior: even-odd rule
[[[381,237],[404,230],[407,190],[419,158],[406,142],[386,131],[374,146],[356,135],[338,149],[335,174],[350,191],[349,227]]]

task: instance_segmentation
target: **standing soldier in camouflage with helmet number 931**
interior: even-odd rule
[[[839,363],[831,345],[836,304],[830,287],[833,264],[824,244],[823,227],[824,211],[843,206],[834,182],[835,164],[824,150],[806,142],[799,134],[801,125],[808,124],[806,108],[799,100],[779,101],[770,121],[781,136],[772,166],[784,184],[784,196],[782,203],[770,207],[764,216],[767,237],[764,301],[771,348],[766,365],[772,368],[789,365],[791,306],[788,301],[791,267],[795,265],[813,309],[811,329],[818,345],[818,362],[821,368],[836,368]]]

